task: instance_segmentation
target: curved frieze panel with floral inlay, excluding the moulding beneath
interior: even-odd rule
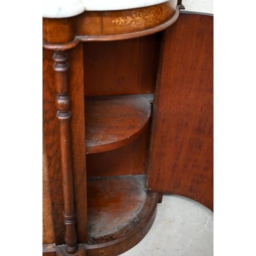
[[[177,1],[169,1],[129,10],[83,12],[77,16],[77,35],[117,35],[151,29],[170,20],[176,5]]]

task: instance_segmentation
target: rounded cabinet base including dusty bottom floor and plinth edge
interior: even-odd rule
[[[76,256],[119,255],[138,244],[150,230],[158,193],[146,194],[145,175],[88,179],[89,243]],[[56,255],[70,255],[56,246]]]

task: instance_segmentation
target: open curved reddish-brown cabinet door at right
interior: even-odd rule
[[[147,185],[213,210],[213,17],[180,14],[166,29]]]

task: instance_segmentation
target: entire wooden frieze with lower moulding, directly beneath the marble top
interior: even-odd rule
[[[179,16],[177,0],[117,11],[84,11],[69,18],[43,18],[43,46],[67,50],[79,41],[112,41],[151,35]]]

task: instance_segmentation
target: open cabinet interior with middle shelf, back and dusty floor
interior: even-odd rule
[[[145,182],[160,39],[157,33],[83,44],[92,246],[123,239],[131,226],[143,226],[141,220],[157,202],[156,194],[146,193]]]

